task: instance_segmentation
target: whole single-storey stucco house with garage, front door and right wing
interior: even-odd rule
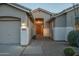
[[[67,41],[75,29],[75,14],[79,5],[55,14],[42,8],[31,10],[16,3],[0,3],[0,44],[28,45],[33,36]]]

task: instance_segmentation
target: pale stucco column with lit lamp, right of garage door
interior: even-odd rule
[[[25,27],[24,27],[25,26]],[[28,45],[29,44],[29,29],[26,25],[21,25],[21,45]]]

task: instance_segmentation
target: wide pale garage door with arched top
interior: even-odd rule
[[[16,18],[0,18],[0,44],[20,43],[20,21]]]

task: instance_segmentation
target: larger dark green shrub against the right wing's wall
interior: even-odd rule
[[[68,42],[71,46],[77,46],[77,39],[78,39],[79,32],[71,31],[68,34]]]

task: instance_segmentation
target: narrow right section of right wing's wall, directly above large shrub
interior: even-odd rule
[[[69,32],[75,30],[75,11],[71,10],[67,12],[66,18],[67,18],[66,41],[67,41],[67,36]]]

